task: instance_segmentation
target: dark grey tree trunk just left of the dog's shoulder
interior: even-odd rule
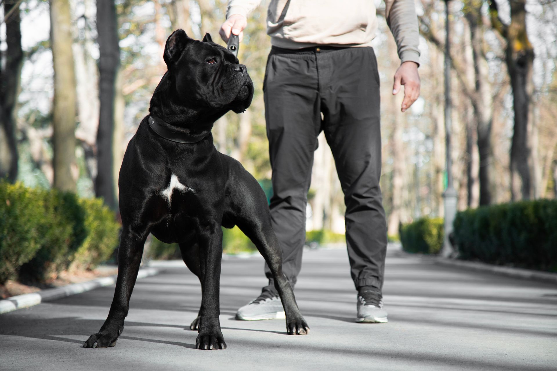
[[[99,131],[97,132],[97,178],[95,194],[103,197],[111,209],[118,209],[114,186],[114,100],[116,77],[120,67],[120,47],[116,8],[110,0],[97,0],[99,33]]]

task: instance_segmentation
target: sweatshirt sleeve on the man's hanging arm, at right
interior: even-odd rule
[[[397,43],[400,62],[411,61],[419,65],[418,16],[414,0],[385,0],[385,16]]]

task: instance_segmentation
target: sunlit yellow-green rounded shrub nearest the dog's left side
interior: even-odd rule
[[[87,237],[75,252],[71,270],[92,270],[118,248],[120,224],[101,199],[81,199],[79,205],[85,210]]]

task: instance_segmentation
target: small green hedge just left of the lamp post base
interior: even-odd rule
[[[443,247],[443,219],[422,217],[399,226],[402,249],[408,253],[438,254]]]

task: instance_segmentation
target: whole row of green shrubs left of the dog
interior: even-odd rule
[[[74,261],[94,268],[118,246],[115,219],[101,200],[0,181],[0,284],[55,279]]]

